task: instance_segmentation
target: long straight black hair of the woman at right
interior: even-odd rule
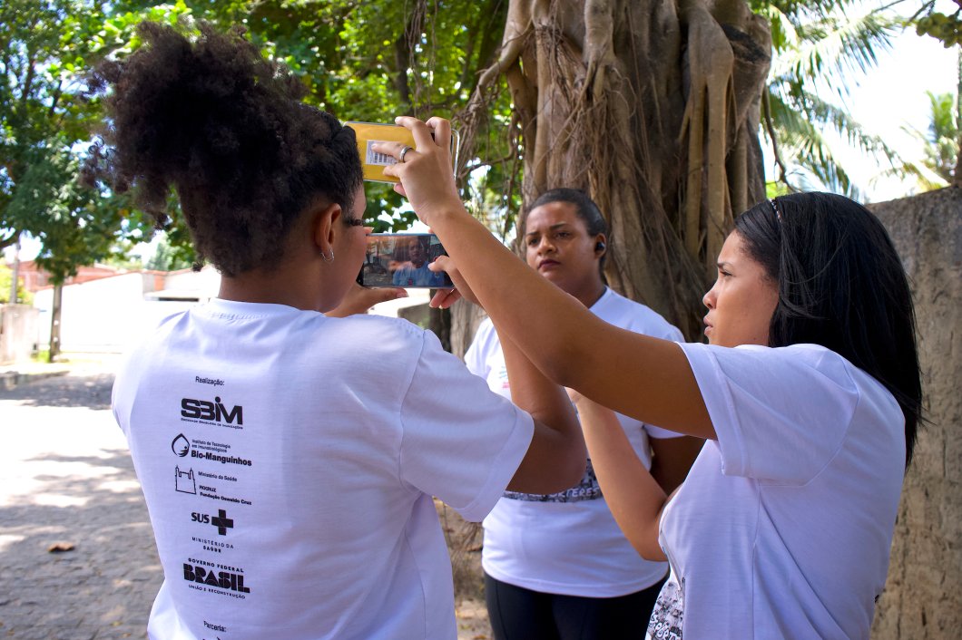
[[[735,220],[746,251],[778,286],[769,346],[820,344],[881,382],[905,416],[905,466],[922,420],[915,310],[899,254],[869,209],[796,193]]]

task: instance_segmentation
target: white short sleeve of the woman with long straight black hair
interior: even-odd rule
[[[681,346],[726,476],[803,484],[842,446],[859,401],[845,358],[816,345]]]

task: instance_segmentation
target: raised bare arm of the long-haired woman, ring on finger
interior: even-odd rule
[[[438,234],[500,331],[550,380],[620,413],[671,431],[713,438],[715,431],[681,348],[598,319],[529,269],[464,208],[451,176],[450,125],[398,118],[414,132],[417,153],[386,172],[418,217]],[[395,157],[400,146],[379,151]],[[651,372],[657,371],[657,375]]]

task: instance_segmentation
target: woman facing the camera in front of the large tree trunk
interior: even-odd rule
[[[583,191],[543,193],[521,218],[519,234],[528,266],[597,317],[628,331],[682,339],[653,310],[608,288],[608,225]],[[479,327],[465,361],[492,390],[510,397],[491,320]],[[618,421],[638,462],[671,493],[702,441],[624,415]],[[505,493],[484,520],[482,565],[498,640],[637,638],[668,573],[667,563],[647,561],[631,548],[605,504],[591,460],[581,482],[566,491]]]

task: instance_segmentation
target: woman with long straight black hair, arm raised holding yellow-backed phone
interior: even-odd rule
[[[922,402],[908,282],[877,218],[826,193],[749,209],[704,298],[709,344],[678,344],[533,274],[445,182],[448,123],[398,122],[418,143],[390,169],[399,190],[502,339],[574,390],[620,528],[671,564],[649,637],[867,638]],[[671,499],[612,409],[706,440]]]

